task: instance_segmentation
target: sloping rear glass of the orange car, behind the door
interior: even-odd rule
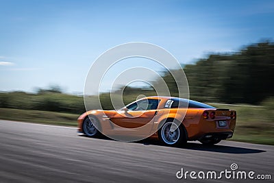
[[[171,98],[166,101],[164,108],[214,108],[206,103],[188,99]]]

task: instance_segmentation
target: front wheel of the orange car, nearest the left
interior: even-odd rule
[[[97,119],[94,117],[87,117],[83,121],[83,131],[86,136],[95,137],[99,136],[100,132],[95,127],[95,123],[97,123]],[[98,125],[97,125],[98,126]]]

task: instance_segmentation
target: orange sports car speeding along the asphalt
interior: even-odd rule
[[[166,145],[187,141],[214,145],[231,138],[235,125],[235,110],[158,96],[139,99],[120,110],[90,110],[78,118],[79,132],[86,136],[158,137]]]

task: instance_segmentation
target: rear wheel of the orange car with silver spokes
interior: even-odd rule
[[[171,126],[175,125],[175,130],[171,130]],[[184,130],[182,125],[177,126],[173,121],[167,121],[164,125],[158,130],[158,136],[160,141],[165,145],[175,146],[182,143],[185,139]]]

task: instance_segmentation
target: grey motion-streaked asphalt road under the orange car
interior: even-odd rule
[[[0,121],[0,182],[206,182],[177,179],[184,171],[254,171],[273,182],[274,146],[222,141],[214,147],[188,143],[165,147],[156,141],[123,143],[79,136],[75,127]],[[180,175],[180,174],[179,174]],[[202,174],[201,174],[202,175]],[[197,176],[197,175],[196,175]]]

